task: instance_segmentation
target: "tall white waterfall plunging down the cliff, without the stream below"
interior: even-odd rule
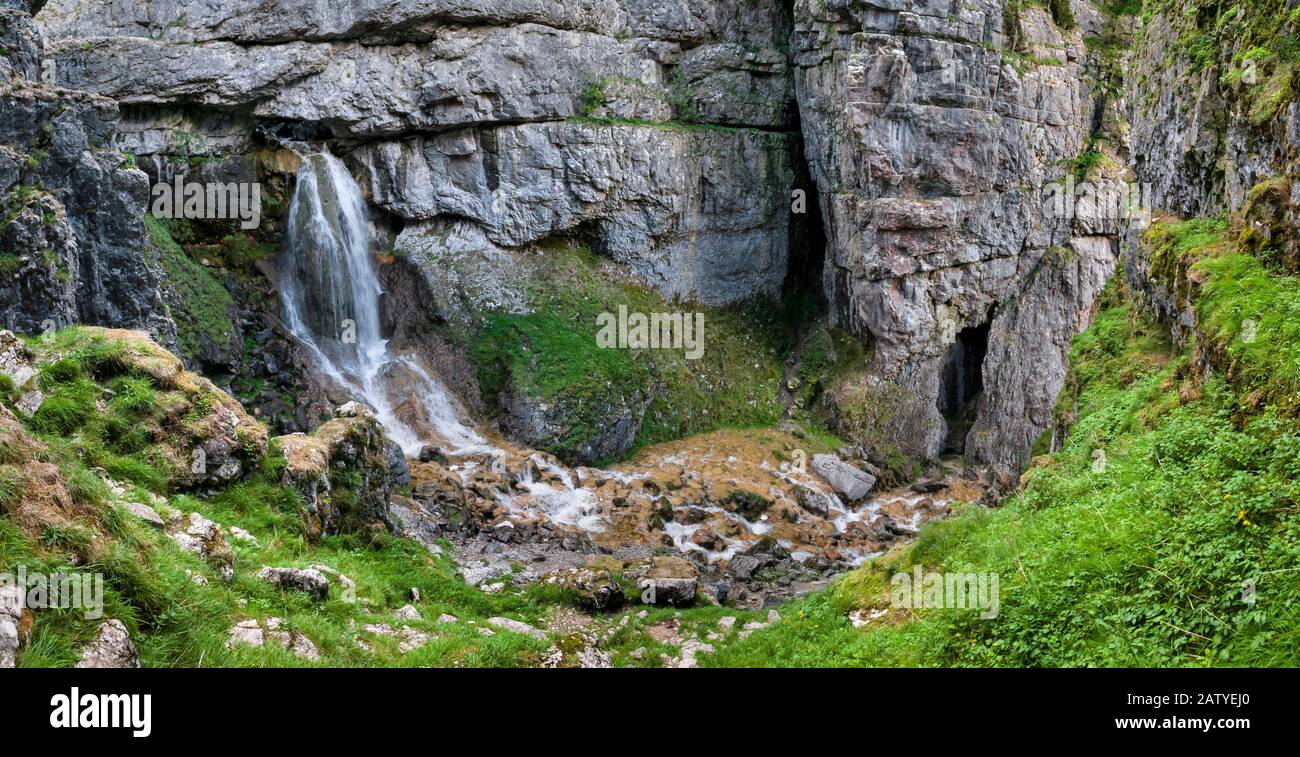
[[[459,450],[486,441],[462,420],[447,389],[411,355],[394,355],[380,329],[380,287],[360,187],[328,152],[304,155],[289,206],[281,293],[289,329],[318,368],[369,405],[408,455],[429,438]]]

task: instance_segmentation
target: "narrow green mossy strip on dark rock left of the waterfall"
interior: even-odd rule
[[[230,350],[239,329],[233,321],[234,298],[203,265],[186,255],[164,221],[144,217],[150,241],[159,248],[160,263],[181,307],[173,308],[181,352],[191,364],[199,360],[204,342],[220,352]]]

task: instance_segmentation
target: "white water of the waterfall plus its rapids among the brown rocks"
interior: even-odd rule
[[[389,437],[407,455],[419,454],[424,444],[446,444],[446,451],[454,459],[450,470],[459,473],[463,484],[468,484],[481,466],[489,464],[504,473],[510,460],[514,460],[510,486],[497,493],[498,501],[512,516],[542,516],[550,523],[588,532],[602,532],[614,524],[608,511],[602,512],[607,501],[592,488],[577,485],[572,471],[536,453],[493,446],[463,420],[446,388],[415,356],[394,354],[389,349],[380,328],[380,298],[384,293],[374,265],[365,206],[356,182],[328,152],[303,155],[289,208],[289,245],[281,291],[286,323],[313,355],[318,369],[356,399],[373,407]],[[711,454],[699,460],[707,460]],[[586,470],[586,475],[603,483],[628,485],[649,472],[629,475]],[[835,516],[832,528],[837,533],[844,533],[854,523],[871,522],[880,507],[876,503],[853,511],[833,494],[828,497],[833,505],[828,507]],[[720,516],[732,536],[724,536],[712,546],[701,546],[696,540],[702,528],[698,523],[681,524],[670,519],[662,528],[680,551],[703,553],[710,562],[729,561],[748,548],[749,542],[736,533],[762,537],[774,528],[766,515],[755,522],[712,505],[696,510],[707,516]],[[783,546],[792,549],[796,545],[785,542]],[[854,562],[870,557],[846,548],[841,553]]]

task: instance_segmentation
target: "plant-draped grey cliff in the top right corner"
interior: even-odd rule
[[[1213,17],[1152,14],[1130,56],[1124,114],[1132,125],[1134,172],[1150,187],[1154,207],[1182,217],[1242,212],[1245,251],[1271,250],[1295,272],[1300,103],[1291,94],[1292,64],[1268,52],[1278,46],[1260,38],[1290,39],[1270,13],[1242,7],[1223,13],[1218,27]],[[1202,51],[1193,55],[1184,40],[1197,36]],[[1140,245],[1135,235],[1127,242],[1130,284],[1149,290]],[[1171,304],[1158,299],[1152,299],[1157,307]]]

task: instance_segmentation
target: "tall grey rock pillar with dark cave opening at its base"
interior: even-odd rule
[[[1039,193],[1089,134],[1080,33],[998,0],[800,0],[793,40],[826,294],[874,346],[838,395],[875,412],[859,441],[1023,464],[1114,264]]]

